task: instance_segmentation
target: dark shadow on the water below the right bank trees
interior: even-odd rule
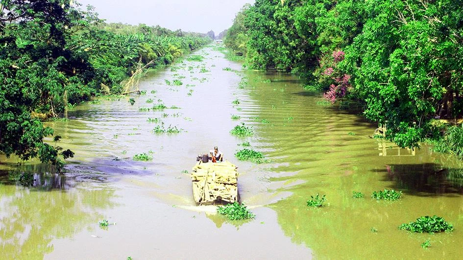
[[[435,163],[391,164],[384,172],[385,181],[393,181],[396,190],[418,196],[463,194],[463,168],[442,168]]]

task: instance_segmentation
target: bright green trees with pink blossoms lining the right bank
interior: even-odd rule
[[[256,0],[224,41],[250,68],[298,73],[336,102],[357,100],[400,147],[463,114],[461,0]],[[244,49],[245,46],[245,49]]]

